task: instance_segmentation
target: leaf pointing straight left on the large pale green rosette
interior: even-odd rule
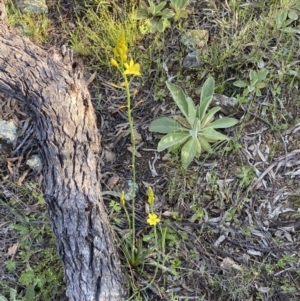
[[[150,132],[169,134],[175,132],[184,132],[188,129],[181,126],[176,120],[170,117],[160,117],[153,120],[149,125]]]

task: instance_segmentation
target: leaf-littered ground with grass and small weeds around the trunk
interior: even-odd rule
[[[143,35],[143,23],[125,23],[131,30],[128,51],[142,75],[130,86],[139,190],[135,203],[126,201],[123,207],[119,195],[132,180],[131,140],[126,94],[115,86],[122,78],[109,58],[116,46],[111,41],[118,33],[115,20],[124,24],[128,8],[137,5],[129,2],[50,1],[46,33],[31,36],[45,48],[72,47],[87,79],[96,72],[89,88],[102,135],[103,196],[119,237],[128,300],[299,300],[299,4],[199,0],[190,1],[188,17],[171,20],[163,33]],[[91,13],[97,7],[110,32],[97,26],[100,21]],[[187,53],[180,42],[189,29],[209,33],[201,48],[203,65],[193,69],[183,67]],[[250,71],[264,69],[268,74],[258,81],[264,85],[256,93]],[[230,115],[239,123],[221,130],[228,142],[214,145],[212,154],[203,152],[183,169],[179,152],[157,152],[162,135],[150,132],[149,124],[180,114],[166,80],[197,104],[208,76],[215,79],[216,93],[238,99]],[[247,85],[237,87],[237,80]],[[247,89],[250,93],[243,95]],[[16,289],[18,300],[59,300],[62,268],[40,191],[41,174],[25,164],[38,154],[34,125],[15,100],[1,99],[0,117],[15,120],[19,138],[0,157],[0,290],[8,296]],[[147,223],[149,186],[160,218],[155,227]],[[140,251],[134,258],[126,251],[133,244]]]

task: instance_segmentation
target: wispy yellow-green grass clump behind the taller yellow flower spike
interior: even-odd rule
[[[126,1],[122,9],[115,1],[95,0],[97,6],[90,6],[86,17],[78,18],[77,28],[71,35],[72,48],[81,55],[90,55],[101,66],[110,66],[109,60],[121,35],[131,49],[140,39],[135,3]],[[131,53],[133,57],[136,54]]]

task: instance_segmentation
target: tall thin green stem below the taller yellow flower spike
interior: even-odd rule
[[[129,122],[129,130],[130,130],[130,139],[131,139],[131,165],[132,165],[132,258],[134,258],[135,254],[135,191],[136,191],[136,172],[135,172],[135,137],[133,131],[133,118],[132,118],[132,109],[131,109],[131,97],[130,97],[130,83],[128,82],[127,76],[123,74],[125,81],[125,89],[127,96],[127,115]]]

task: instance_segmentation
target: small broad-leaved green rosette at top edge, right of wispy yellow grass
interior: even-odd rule
[[[155,5],[152,0],[148,0],[149,6],[145,2],[141,2],[137,12],[138,20],[146,20],[146,28],[149,32],[164,32],[170,26],[169,19],[174,17],[174,12],[169,8],[165,8],[167,1],[162,1]]]

